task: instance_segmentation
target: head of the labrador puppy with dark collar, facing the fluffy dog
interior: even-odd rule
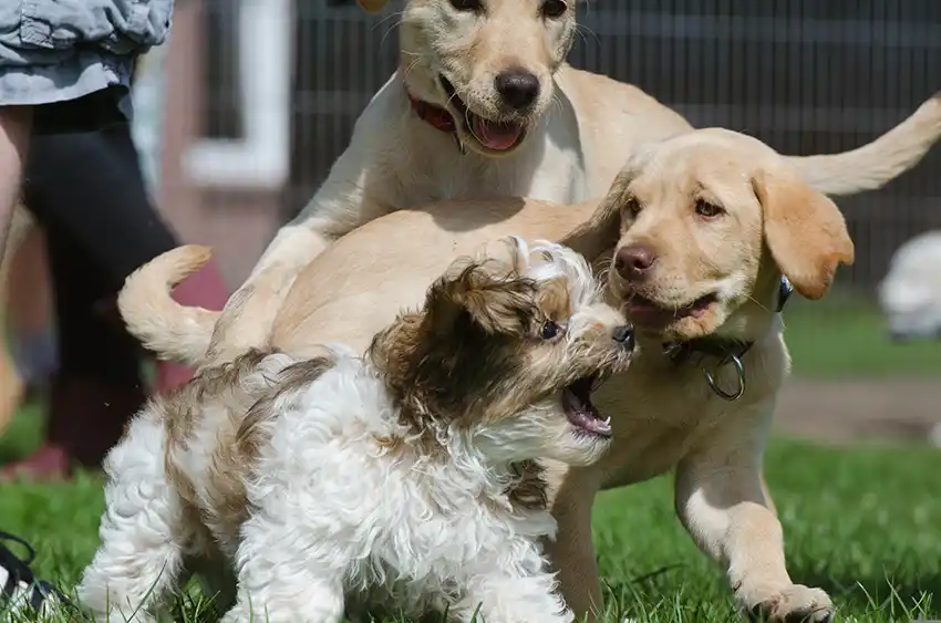
[[[656,340],[756,339],[782,273],[817,299],[852,261],[833,201],[768,146],[726,129],[639,150],[608,200],[621,214],[609,284]]]

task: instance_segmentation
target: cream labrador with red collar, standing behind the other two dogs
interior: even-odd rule
[[[385,2],[360,4],[379,10]],[[560,204],[597,198],[637,146],[690,131],[681,115],[640,89],[566,64],[576,6],[405,0],[400,70],[371,100],[322,186],[281,228],[240,289],[246,331],[259,318],[273,316],[311,259],[364,222],[451,198],[525,196]],[[875,188],[917,162],[939,133],[941,112],[933,105],[872,149],[796,166],[827,194]],[[207,347],[204,342],[197,359]]]

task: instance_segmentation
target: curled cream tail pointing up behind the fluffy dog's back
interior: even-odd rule
[[[220,313],[182,305],[173,288],[209,261],[208,247],[185,245],[135,270],[117,295],[127,330],[158,357],[189,366],[206,360]]]

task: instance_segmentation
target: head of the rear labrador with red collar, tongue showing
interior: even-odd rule
[[[552,102],[552,76],[571,48],[576,0],[409,0],[402,76],[445,107],[465,145],[506,156]]]

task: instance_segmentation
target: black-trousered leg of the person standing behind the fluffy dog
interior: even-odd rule
[[[114,297],[176,240],[149,201],[126,124],[34,136],[23,203],[45,229],[55,294],[60,368],[48,440],[97,465],[145,399],[142,350]]]

